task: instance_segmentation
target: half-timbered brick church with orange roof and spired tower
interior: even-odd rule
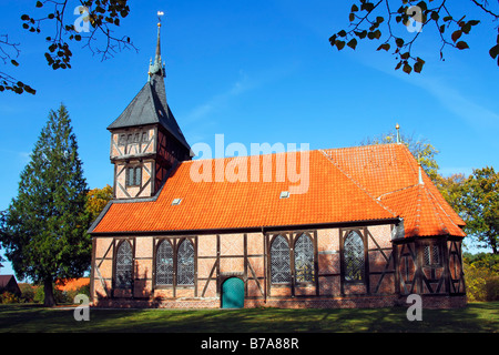
[[[147,82],[108,126],[114,199],[89,230],[93,306],[466,305],[465,223],[405,144],[192,159],[160,29]]]

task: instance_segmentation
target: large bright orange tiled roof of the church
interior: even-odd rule
[[[115,202],[92,232],[251,229],[403,217],[406,236],[465,235],[458,226],[464,222],[428,176],[424,174],[425,184],[418,183],[418,164],[403,144],[298,152],[298,162],[308,155],[308,165],[304,165],[309,170],[308,189],[279,199],[282,191],[305,185],[303,181],[278,179],[289,178],[286,168],[278,169],[281,159],[289,154],[182,162],[155,201]],[[263,169],[266,159],[272,160],[272,176]],[[252,160],[259,162],[257,175],[252,175]],[[211,168],[212,176],[216,166],[230,171],[237,164],[246,166],[246,172],[236,172],[247,182],[231,182],[226,175],[222,182],[214,178],[212,182],[196,182],[191,173],[200,171],[200,164]],[[302,172],[302,179],[305,175]],[[255,176],[259,178],[257,182],[251,182]],[[172,205],[174,199],[182,199],[181,204]]]

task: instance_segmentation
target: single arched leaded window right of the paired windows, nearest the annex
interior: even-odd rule
[[[352,231],[345,239],[345,280],[360,282],[364,280],[364,241],[361,236]]]

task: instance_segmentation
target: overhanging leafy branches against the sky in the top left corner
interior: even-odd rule
[[[121,20],[130,13],[128,0],[80,0],[74,8],[68,0],[33,1],[35,14],[21,16],[22,28],[31,33],[44,31],[48,43],[44,58],[53,69],[70,69],[74,43],[99,54],[102,60],[111,58],[122,49],[134,47],[130,37],[115,36]],[[34,9],[33,9],[34,10]],[[21,43],[0,33],[0,60],[4,65],[20,65]],[[35,93],[29,84],[0,70],[0,92]]]

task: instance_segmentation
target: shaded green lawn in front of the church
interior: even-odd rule
[[[376,310],[90,310],[77,322],[72,310],[38,305],[0,305],[0,332],[167,332],[167,333],[498,333],[499,302],[470,303],[466,308],[422,311],[409,322],[406,308]]]

